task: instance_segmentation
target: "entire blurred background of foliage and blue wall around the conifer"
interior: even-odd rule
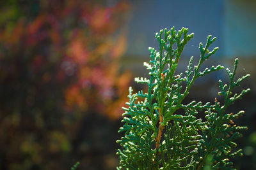
[[[195,36],[184,49],[178,72],[198,44],[216,36],[216,55],[206,66],[251,74],[252,89],[228,111],[249,130],[239,139],[244,157],[237,169],[256,169],[255,0],[1,0],[0,169],[115,169],[116,139],[128,87],[148,76],[148,46],[158,48],[159,29],[188,27]],[[211,101],[225,71],[195,81],[185,102]]]

